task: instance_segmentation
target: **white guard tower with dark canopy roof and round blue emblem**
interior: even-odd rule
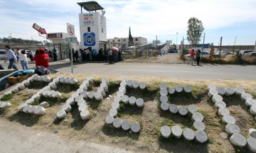
[[[81,6],[79,14],[81,48],[96,50],[107,49],[107,28],[104,8],[96,1],[78,3]],[[82,13],[84,8],[87,13]],[[99,11],[100,10],[100,11]]]

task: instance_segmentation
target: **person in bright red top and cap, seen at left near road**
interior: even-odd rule
[[[36,61],[36,67],[43,66],[43,67],[49,67],[49,56],[46,54],[43,48],[40,48],[39,54],[33,57],[33,60]]]

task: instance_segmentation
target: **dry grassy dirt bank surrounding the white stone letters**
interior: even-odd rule
[[[58,74],[51,74],[53,79]],[[62,74],[64,77],[75,77],[78,79],[78,84],[81,84],[87,77],[82,74]],[[58,89],[62,96],[61,98],[41,98],[39,102],[47,101],[50,103],[50,108],[46,109],[45,115],[30,115],[18,111],[18,105],[25,102],[39,89],[46,86],[46,83],[34,82],[26,89],[19,91],[12,97],[9,97],[9,102],[12,106],[6,110],[0,110],[0,120],[10,122],[12,125],[21,124],[30,127],[33,130],[42,130],[56,133],[62,137],[68,137],[70,140],[83,140],[85,142],[95,142],[103,145],[110,145],[127,149],[132,152],[249,152],[247,147],[234,147],[229,140],[225,140],[220,136],[224,132],[225,125],[221,122],[221,118],[216,114],[217,108],[213,106],[210,98],[207,96],[206,86],[215,84],[218,87],[232,87],[235,89],[240,86],[245,91],[255,98],[256,82],[252,80],[181,80],[156,77],[132,77],[123,76],[134,81],[144,81],[147,84],[146,90],[127,89],[128,96],[144,99],[144,107],[121,105],[118,111],[118,117],[122,120],[128,119],[132,122],[139,122],[142,129],[139,133],[132,131],[124,131],[116,129],[112,125],[105,124],[105,117],[112,107],[112,101],[117,94],[120,77],[113,76],[92,76],[95,79],[92,89],[95,91],[100,84],[102,78],[110,80],[108,95],[112,99],[103,101],[90,101],[88,110],[90,111],[89,120],[81,120],[78,106],[73,106],[72,110],[65,119],[56,118],[56,113],[61,109],[63,103],[78,89],[78,85],[71,86],[60,84]],[[174,94],[169,96],[169,103],[174,103],[178,106],[188,106],[194,104],[198,108],[198,112],[204,116],[203,122],[206,124],[205,132],[208,135],[208,141],[201,144],[195,140],[189,142],[183,137],[176,139],[170,137],[165,139],[161,137],[160,128],[163,125],[180,125],[181,128],[192,128],[193,121],[191,115],[181,116],[171,114],[169,111],[161,111],[159,108],[159,86],[162,83],[168,86],[190,85],[192,87],[191,94]],[[89,90],[89,91],[90,91]],[[245,108],[244,102],[239,96],[225,96],[223,101],[227,103],[227,108],[230,114],[237,120],[237,125],[241,129],[241,134],[248,137],[247,133],[250,128],[256,128],[254,116],[248,113],[248,108]],[[193,129],[194,130],[194,129]]]

